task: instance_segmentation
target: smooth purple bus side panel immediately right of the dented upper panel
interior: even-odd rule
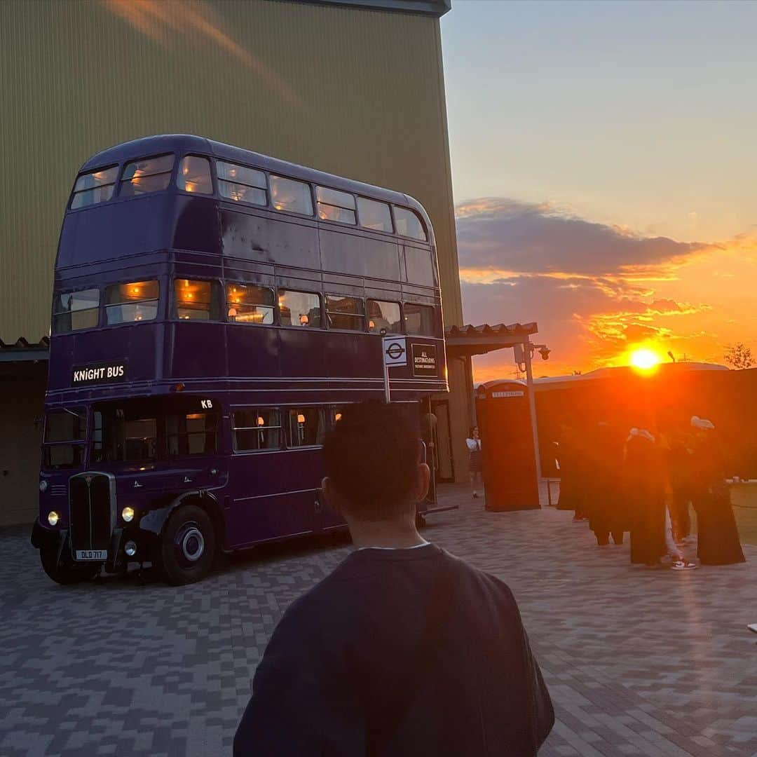
[[[320,229],[319,239],[324,271],[400,280],[400,251],[396,242],[327,229]]]

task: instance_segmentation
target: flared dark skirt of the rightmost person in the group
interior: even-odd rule
[[[703,494],[694,498],[697,552],[702,565],[733,565],[746,562],[739,531],[727,492]]]

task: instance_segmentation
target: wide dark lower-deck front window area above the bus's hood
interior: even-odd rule
[[[217,451],[219,414],[210,400],[156,397],[95,405],[92,462],[149,463]]]

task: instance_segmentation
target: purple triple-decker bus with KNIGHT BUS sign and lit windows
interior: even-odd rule
[[[419,412],[447,391],[413,198],[198,136],[87,160],[55,262],[45,572],[151,562],[185,584],[220,552],[344,528],[319,494],[321,444],[346,403],[384,397],[382,334],[407,344],[393,402]]]

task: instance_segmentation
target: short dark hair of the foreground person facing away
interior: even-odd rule
[[[382,520],[407,506],[421,453],[413,410],[378,402],[349,405],[326,435],[326,475],[350,512]]]

